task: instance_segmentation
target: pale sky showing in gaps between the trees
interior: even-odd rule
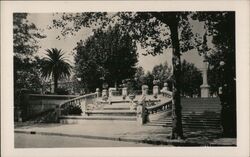
[[[54,19],[52,13],[32,13],[29,14],[28,20],[34,23],[39,29],[42,29],[44,34],[47,35],[46,38],[39,40],[39,50],[37,55],[44,56],[46,53],[46,49],[50,48],[58,48],[62,49],[66,54],[66,57],[69,58],[71,64],[74,64],[74,48],[76,47],[76,43],[80,40],[85,40],[89,36],[93,34],[91,28],[83,28],[74,36],[67,36],[66,38],[61,38],[60,40],[56,39],[58,35],[60,35],[60,30],[58,29],[48,29],[48,25],[52,25],[52,20]],[[199,33],[203,31],[203,25],[199,22],[192,21],[193,30]],[[166,49],[162,54],[158,54],[156,56],[147,55],[144,56],[142,53],[145,53],[146,50],[142,49],[139,44],[137,51],[139,54],[139,62],[137,66],[142,66],[145,71],[152,71],[155,65],[160,63],[168,62],[169,65],[172,64],[172,52],[171,49]],[[193,49],[189,52],[184,53],[181,56],[181,59],[185,59],[190,63],[194,63],[197,68],[202,67],[202,57],[199,56],[197,50]]]

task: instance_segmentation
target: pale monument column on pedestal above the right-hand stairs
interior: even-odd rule
[[[203,78],[203,84],[200,86],[201,88],[201,97],[207,98],[209,97],[209,85],[207,82],[207,61],[203,61],[203,68],[202,68],[202,78]]]

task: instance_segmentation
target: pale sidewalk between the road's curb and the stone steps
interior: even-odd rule
[[[218,132],[189,130],[185,139],[172,140],[171,127],[141,126],[135,121],[86,120],[81,124],[15,123],[15,133],[78,137],[147,143],[161,146],[236,146],[235,138],[220,138]],[[110,145],[107,145],[109,147]]]

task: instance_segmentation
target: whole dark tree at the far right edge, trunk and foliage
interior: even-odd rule
[[[214,48],[205,53],[214,88],[222,87],[223,135],[236,137],[236,65],[235,12],[199,12],[194,19],[205,22],[207,35],[212,36]]]

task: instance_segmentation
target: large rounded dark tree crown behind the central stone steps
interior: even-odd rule
[[[135,74],[136,45],[118,25],[96,30],[85,43],[78,42],[75,50],[76,75],[88,90],[100,88],[103,81],[109,86],[120,84]]]

